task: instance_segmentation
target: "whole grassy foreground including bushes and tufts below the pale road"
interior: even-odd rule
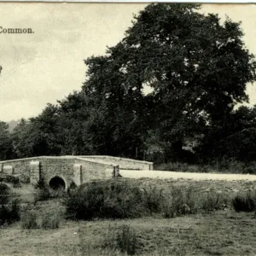
[[[3,206],[1,230],[6,237],[1,244],[6,255],[19,256],[50,251],[68,256],[254,255],[253,186],[247,181],[96,180],[22,209],[18,202]],[[10,236],[29,246],[13,253],[6,246]],[[245,236],[247,246],[236,247],[238,236]],[[42,241],[49,237],[55,244],[44,250]]]

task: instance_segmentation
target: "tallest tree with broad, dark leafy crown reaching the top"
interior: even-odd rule
[[[129,96],[123,91],[133,91],[128,113],[139,113],[143,88],[151,87],[143,96],[148,109],[138,118],[150,114],[147,124],[167,155],[181,153],[186,137],[206,134],[237,102],[247,102],[246,85],[255,80],[255,60],[240,24],[221,23],[218,15],[202,15],[199,9],[189,3],[150,4],[107,56],[87,61],[87,84],[94,84],[102,104],[113,90],[117,106],[109,114]]]

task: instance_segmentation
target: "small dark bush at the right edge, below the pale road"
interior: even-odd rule
[[[232,200],[232,205],[236,212],[253,212],[256,208],[255,192],[247,192],[246,194],[238,194]]]

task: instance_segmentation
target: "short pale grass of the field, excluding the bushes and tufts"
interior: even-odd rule
[[[255,189],[249,181],[189,181],[150,180],[135,181],[168,190],[173,184],[192,186],[207,193],[236,194]],[[32,208],[38,212],[57,208],[64,212],[60,201],[40,202]],[[197,213],[177,218],[148,218],[122,220],[70,221],[61,219],[59,229],[23,230],[20,223],[0,229],[0,255],[125,255],[102,247],[113,228],[129,225],[136,232],[140,247],[137,255],[256,255],[256,218],[254,212],[225,210]]]

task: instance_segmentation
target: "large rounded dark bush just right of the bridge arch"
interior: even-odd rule
[[[143,206],[143,192],[136,185],[122,180],[84,183],[65,201],[67,217],[136,218],[148,211]]]

